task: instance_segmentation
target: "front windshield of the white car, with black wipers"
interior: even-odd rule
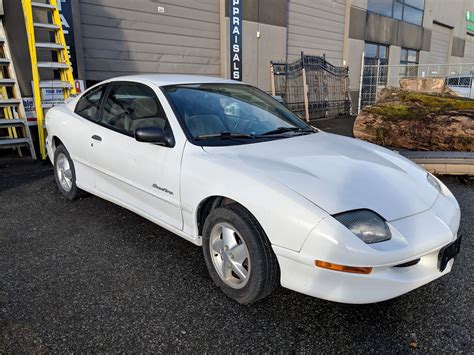
[[[201,145],[253,143],[313,133],[284,105],[244,84],[187,84],[164,88],[187,133]]]

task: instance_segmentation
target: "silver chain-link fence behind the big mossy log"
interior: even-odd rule
[[[364,65],[361,70],[358,111],[375,104],[377,94],[386,87],[399,87],[404,78],[441,77],[449,88],[463,97],[474,98],[474,64]]]

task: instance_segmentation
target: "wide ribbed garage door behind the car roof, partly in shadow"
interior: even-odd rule
[[[80,14],[87,80],[220,75],[217,0],[80,0]]]

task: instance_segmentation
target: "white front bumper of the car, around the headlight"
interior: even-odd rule
[[[441,271],[439,253],[456,239],[459,220],[454,197],[440,195],[431,209],[390,222],[392,240],[367,245],[328,218],[315,227],[299,252],[274,246],[281,285],[342,303],[373,303],[400,296],[451,271],[454,259]],[[397,267],[417,259],[415,265]],[[372,267],[372,272],[323,269],[315,266],[315,260]]]

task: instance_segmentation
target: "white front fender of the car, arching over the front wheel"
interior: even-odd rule
[[[184,231],[198,236],[197,211],[210,196],[230,198],[252,213],[273,245],[298,251],[328,214],[282,183],[222,155],[187,144],[181,169]]]

